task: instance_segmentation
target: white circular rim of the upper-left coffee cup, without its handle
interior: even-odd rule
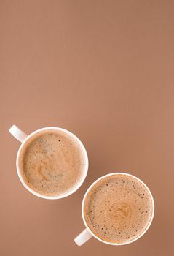
[[[79,144],[80,148],[82,149],[83,159],[84,159],[83,174],[82,174],[82,177],[81,177],[79,183],[76,184],[76,186],[73,189],[71,189],[70,191],[68,191],[68,192],[66,192],[66,193],[64,193],[62,195],[57,195],[57,196],[41,195],[38,192],[36,192],[33,189],[31,189],[30,187],[28,187],[28,185],[25,184],[25,181],[23,180],[23,176],[20,173],[20,167],[19,167],[20,152],[21,152],[23,146],[25,145],[25,143],[30,138],[32,138],[33,135],[36,135],[39,132],[46,131],[46,130],[49,130],[49,129],[65,132],[67,135],[70,135],[71,138],[76,140],[76,142]],[[79,187],[82,186],[82,184],[83,184],[83,182],[84,182],[84,180],[85,180],[85,178],[87,176],[88,166],[89,166],[89,160],[88,160],[88,157],[87,157],[87,151],[86,151],[86,148],[84,147],[84,144],[82,143],[82,141],[76,135],[74,135],[74,133],[68,131],[67,129],[60,128],[60,127],[44,127],[44,128],[41,128],[41,129],[36,129],[34,132],[31,132],[30,135],[27,135],[27,137],[25,138],[25,140],[23,140],[23,142],[20,145],[20,148],[17,151],[16,169],[17,169],[17,175],[20,178],[20,181],[22,182],[22,184],[25,187],[25,189],[28,189],[28,191],[31,192],[33,195],[36,195],[37,197],[41,197],[41,198],[44,198],[44,199],[49,199],[49,200],[60,199],[60,198],[68,197],[69,195],[71,195],[74,192],[76,192],[76,190],[79,189]]]

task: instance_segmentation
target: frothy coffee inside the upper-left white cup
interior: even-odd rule
[[[82,149],[65,132],[40,132],[20,152],[23,180],[42,195],[57,196],[70,191],[82,178],[82,170]]]

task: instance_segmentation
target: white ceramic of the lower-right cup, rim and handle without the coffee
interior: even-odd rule
[[[108,241],[103,241],[102,239],[100,239],[98,236],[96,236],[94,233],[92,233],[92,231],[90,230],[90,227],[88,227],[87,225],[87,222],[86,220],[84,219],[84,201],[87,197],[87,194],[88,192],[90,192],[90,189],[92,189],[93,186],[95,186],[95,184],[98,183],[98,181],[100,181],[101,179],[103,178],[106,178],[108,176],[112,176],[112,175],[116,175],[116,174],[124,174],[124,175],[127,175],[127,176],[130,176],[138,181],[140,181],[144,187],[146,187],[147,191],[149,192],[149,195],[151,197],[151,202],[152,202],[152,214],[151,214],[151,219],[149,221],[149,224],[146,226],[146,229],[143,231],[143,233],[140,234],[140,236],[134,238],[133,240],[131,241],[127,241],[125,243],[122,243],[122,244],[116,244],[116,243],[110,243]],[[82,244],[86,243],[90,238],[92,238],[92,236],[94,236],[95,238],[97,238],[99,241],[103,242],[104,244],[110,244],[110,245],[124,245],[124,244],[130,244],[130,243],[133,243],[134,241],[138,240],[138,238],[141,238],[141,236],[143,236],[146,231],[149,229],[150,225],[151,225],[151,222],[154,218],[154,198],[152,197],[151,195],[151,192],[149,190],[149,188],[146,186],[146,184],[143,183],[143,181],[141,181],[139,178],[129,174],[129,173],[108,173],[106,174],[105,176],[102,176],[100,178],[98,178],[96,181],[94,181],[92,183],[92,185],[87,189],[87,192],[85,193],[84,195],[84,198],[83,198],[83,201],[82,201],[82,219],[84,221],[84,225],[86,226],[85,230],[82,231],[82,233],[79,234],[79,236],[77,236],[74,241],[77,245],[81,246]]]

